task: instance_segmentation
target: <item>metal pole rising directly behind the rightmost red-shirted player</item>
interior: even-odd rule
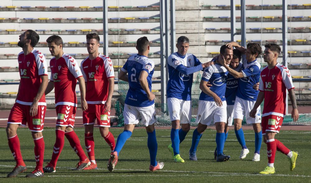
[[[283,9],[282,9],[282,43],[283,43],[283,66],[287,67],[287,0],[283,0]],[[286,99],[285,99],[286,110],[285,113],[288,114],[288,91],[286,90]]]

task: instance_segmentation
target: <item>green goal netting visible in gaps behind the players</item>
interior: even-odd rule
[[[197,75],[197,77],[193,81],[192,85],[192,119],[191,119],[191,126],[197,126],[195,123],[195,119],[197,117],[197,108],[198,108],[198,101],[201,90],[199,88],[200,81],[201,81],[201,72]],[[119,80],[118,82],[118,93],[119,98],[115,104],[116,110],[116,120],[117,126],[121,127],[124,126],[124,119],[123,119],[123,108],[124,108],[124,100],[126,94],[128,92],[128,82]],[[156,108],[156,119],[157,122],[155,123],[156,126],[171,126],[171,121],[169,119],[169,112],[166,104],[155,103]],[[261,111],[263,109],[263,102],[261,104]],[[246,121],[245,118],[242,121],[242,124],[245,125]],[[287,115],[284,118],[283,125],[310,125],[311,124],[311,114],[301,114],[299,115],[299,120],[293,122],[290,115]],[[136,126],[142,126],[140,123]]]

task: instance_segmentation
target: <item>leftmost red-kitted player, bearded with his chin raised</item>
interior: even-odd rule
[[[43,174],[44,140],[42,136],[46,103],[44,91],[48,85],[48,72],[45,57],[34,49],[39,41],[39,35],[33,30],[27,30],[19,36],[18,46],[23,49],[18,54],[18,70],[21,81],[18,87],[16,103],[11,109],[7,121],[7,138],[16,167],[7,177],[16,177],[26,171],[26,165],[21,155],[20,142],[17,136],[19,125],[28,123],[35,142],[36,167],[26,177],[39,177]]]

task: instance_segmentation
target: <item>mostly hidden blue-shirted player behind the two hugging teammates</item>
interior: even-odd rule
[[[241,61],[241,52],[238,49],[233,50],[233,57],[230,61],[230,68],[235,71],[241,71],[242,63]],[[231,74],[228,74],[227,86],[226,86],[226,103],[227,103],[227,123],[225,124],[225,141],[228,137],[229,126],[232,126],[233,122],[233,108],[236,92],[238,89],[238,79],[234,78]],[[214,151],[214,158],[217,158],[217,148]]]

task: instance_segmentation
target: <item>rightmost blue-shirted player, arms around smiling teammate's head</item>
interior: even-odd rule
[[[253,109],[258,95],[258,90],[254,90],[253,86],[259,82],[260,78],[261,66],[257,61],[257,57],[262,53],[262,47],[258,43],[248,43],[246,49],[235,42],[230,42],[228,45],[230,48],[234,46],[244,53],[242,55],[243,65],[240,72],[230,68],[225,61],[221,62],[234,78],[239,78],[239,87],[234,102],[234,131],[240,145],[242,146],[239,158],[244,159],[249,153],[244,139],[244,132],[242,130],[242,120],[245,116],[246,123],[252,124],[255,132],[255,151],[253,161],[260,161],[260,147],[262,143],[260,107],[257,108],[255,118],[250,117],[249,112]]]

